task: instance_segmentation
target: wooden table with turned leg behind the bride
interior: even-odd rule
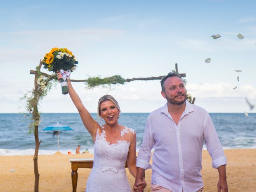
[[[70,159],[71,163],[71,179],[72,179],[72,188],[73,192],[76,192],[77,179],[78,179],[78,168],[92,168],[93,159]],[[125,168],[127,168],[127,161],[125,163]]]

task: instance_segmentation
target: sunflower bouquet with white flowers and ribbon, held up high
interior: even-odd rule
[[[59,71],[62,74],[62,79],[60,80],[62,94],[68,94],[67,78],[69,78],[70,73],[76,69],[76,64],[78,64],[72,52],[67,48],[55,47],[45,54],[42,62],[45,69],[55,73]]]

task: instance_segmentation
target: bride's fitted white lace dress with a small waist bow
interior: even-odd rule
[[[94,143],[93,168],[86,184],[86,192],[131,192],[125,172],[125,162],[130,141],[125,140],[128,134],[135,134],[125,127],[115,143],[108,142],[106,131],[101,126]]]

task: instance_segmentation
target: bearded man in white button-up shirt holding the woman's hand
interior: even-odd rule
[[[226,181],[227,159],[210,115],[201,107],[190,104],[184,82],[177,73],[169,73],[161,80],[162,96],[167,103],[150,113],[137,158],[134,191],[143,179],[151,150],[153,192],[202,192],[202,148],[212,157],[218,169],[218,192],[228,192]]]

